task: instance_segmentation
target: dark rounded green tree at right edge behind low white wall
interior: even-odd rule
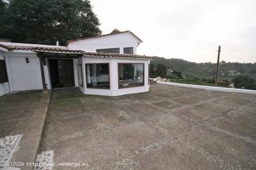
[[[236,88],[256,89],[255,80],[249,76],[237,76],[232,82],[234,82]]]

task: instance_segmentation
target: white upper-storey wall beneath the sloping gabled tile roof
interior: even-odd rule
[[[126,32],[70,42],[67,48],[86,52],[96,52],[96,49],[120,48],[120,53],[123,54],[123,48],[133,47],[133,52],[136,54],[138,43],[139,41],[134,36]]]

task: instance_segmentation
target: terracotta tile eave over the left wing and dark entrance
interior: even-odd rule
[[[42,50],[49,52],[74,52],[74,53],[83,53],[83,50],[65,50],[62,48],[44,48],[44,47],[25,47],[25,46],[7,46],[8,50]]]

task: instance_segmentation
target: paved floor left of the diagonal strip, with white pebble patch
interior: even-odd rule
[[[38,106],[42,91],[31,90],[0,97],[0,170],[18,150],[20,139]]]

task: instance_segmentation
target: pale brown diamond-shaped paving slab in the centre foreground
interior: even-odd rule
[[[163,138],[161,132],[156,131],[144,122],[135,122],[113,128],[117,139],[129,149],[137,149],[151,142]]]

